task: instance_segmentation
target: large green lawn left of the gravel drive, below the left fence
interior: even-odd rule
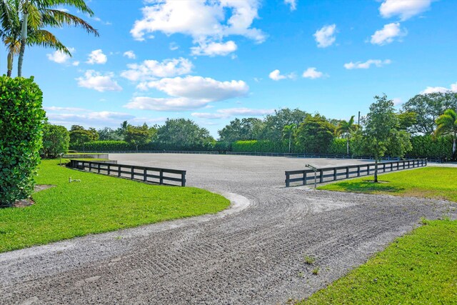
[[[214,214],[230,204],[223,196],[203,189],[153,186],[57,164],[59,160],[44,160],[39,166],[37,184],[56,187],[35,193],[34,205],[0,209],[0,252],[169,219]],[[81,179],[81,183],[69,184],[69,176]]]

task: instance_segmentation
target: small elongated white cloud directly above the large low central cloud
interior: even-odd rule
[[[121,76],[131,81],[151,81],[160,77],[189,74],[194,67],[189,59],[165,59],[164,61],[146,60],[141,64],[128,64],[129,70]]]

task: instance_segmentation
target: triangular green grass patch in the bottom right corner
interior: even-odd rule
[[[457,304],[457,221],[426,221],[298,304]]]

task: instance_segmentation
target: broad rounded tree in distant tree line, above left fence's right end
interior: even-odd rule
[[[167,150],[202,149],[214,143],[208,129],[201,128],[189,119],[167,119],[157,129],[156,139]]]

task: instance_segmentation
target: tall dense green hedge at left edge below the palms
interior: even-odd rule
[[[45,112],[33,77],[0,77],[0,205],[11,206],[34,190]]]

